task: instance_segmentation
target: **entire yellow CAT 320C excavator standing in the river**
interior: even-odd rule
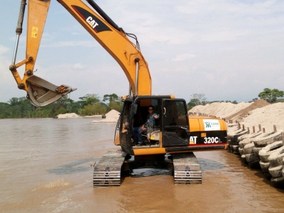
[[[75,90],[65,84],[56,86],[33,75],[50,1],[21,0],[16,45],[9,67],[18,88],[26,90],[27,98],[38,107],[45,107]],[[189,116],[184,99],[175,99],[173,95],[152,95],[151,75],[136,35],[117,26],[93,0],[86,1],[88,6],[81,0],[58,0],[119,63],[129,80],[129,92],[122,97],[124,106],[114,136],[114,143],[120,148],[108,151],[94,166],[94,186],[121,185],[122,171],[129,172],[138,165],[151,162],[164,162],[160,165],[173,170],[175,183],[202,182],[200,164],[193,152],[226,149],[226,123],[216,117]],[[26,4],[26,59],[16,64]],[[22,65],[26,65],[23,78],[17,71]],[[153,129],[143,133],[144,145],[135,146],[133,128],[145,123],[150,105],[159,118]]]

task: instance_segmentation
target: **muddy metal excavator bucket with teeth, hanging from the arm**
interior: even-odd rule
[[[28,99],[36,107],[45,107],[52,104],[77,89],[64,84],[58,87],[35,75],[26,79],[26,85],[28,87]]]

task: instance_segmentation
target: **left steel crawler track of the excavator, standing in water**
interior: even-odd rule
[[[93,184],[95,186],[121,185],[121,165],[125,154],[121,149],[112,149],[104,154],[94,166]]]

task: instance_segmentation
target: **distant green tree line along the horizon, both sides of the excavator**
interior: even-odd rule
[[[226,101],[213,101],[208,102],[204,94],[192,94],[190,102],[187,103],[187,110],[192,109],[197,105],[211,104],[213,102],[231,102]],[[279,89],[263,89],[263,92],[258,94],[260,99],[266,100],[268,103],[284,102],[284,92]],[[84,97],[79,98],[80,101],[75,102],[68,97],[62,97],[58,101],[46,107],[35,107],[29,102],[26,97],[16,98],[13,97],[9,102],[0,102],[0,119],[13,119],[13,118],[52,118],[58,114],[76,113],[80,116],[91,116],[95,114],[106,114],[111,109],[121,111],[123,105],[121,100],[116,94],[105,94],[103,99],[98,94],[86,94]],[[253,99],[256,101],[258,98]],[[232,104],[238,104],[233,101]]]

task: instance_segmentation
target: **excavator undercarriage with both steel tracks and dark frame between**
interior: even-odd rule
[[[131,156],[118,148],[108,151],[94,166],[94,187],[119,186],[122,174],[129,175],[138,168],[170,170],[175,184],[202,183],[200,164],[192,152]]]

